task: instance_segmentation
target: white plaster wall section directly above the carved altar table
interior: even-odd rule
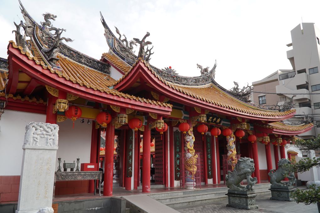
[[[56,169],[58,167],[59,156],[62,160],[61,167],[64,160],[66,163],[73,163],[78,157],[80,158],[80,164],[90,163],[92,122],[88,125],[87,121],[80,123],[80,120],[76,120],[74,129],[72,128],[71,119],[58,123],[59,148],[57,151]]]

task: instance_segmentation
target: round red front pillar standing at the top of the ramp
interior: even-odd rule
[[[149,126],[144,126],[143,132],[143,163],[142,163],[142,192],[150,192],[150,140],[151,140],[151,131]]]

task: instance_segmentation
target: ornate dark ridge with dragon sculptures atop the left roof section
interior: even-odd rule
[[[54,36],[51,33],[48,33],[47,30],[45,30],[45,27],[42,27],[39,25],[27,12],[27,10],[22,5],[21,1],[20,3],[20,9],[21,13],[23,15],[23,18],[25,19],[25,27],[26,27],[26,34],[27,36],[33,37],[34,41],[36,41],[35,45],[43,51],[45,49],[48,49],[48,46],[52,46],[52,43],[54,41]],[[44,14],[46,15],[46,14]],[[52,15],[52,14],[51,14]],[[52,15],[54,17],[54,15]],[[55,18],[54,18],[55,19]],[[54,20],[53,19],[53,20]],[[45,26],[48,26],[48,22],[42,23]],[[58,30],[55,27],[51,27],[52,30]],[[54,28],[54,29],[53,29]],[[64,30],[63,30],[64,31]],[[58,33],[58,31],[56,31]],[[59,31],[62,33],[61,29]],[[54,34],[56,35],[56,34]],[[60,38],[63,39],[63,38]],[[68,40],[68,39],[67,39]],[[19,45],[18,45],[19,46]],[[98,70],[100,72],[106,73],[110,75],[110,65],[104,62],[101,62],[100,60],[97,60],[95,58],[92,58],[90,56],[87,56],[64,43],[59,44],[59,49],[57,50],[60,52],[60,54],[64,55],[65,57],[69,57],[70,59],[77,61],[80,64],[86,65],[92,69]],[[43,54],[46,55],[46,54]],[[48,60],[49,58],[47,58]],[[55,66],[55,64],[51,64],[52,66]]]

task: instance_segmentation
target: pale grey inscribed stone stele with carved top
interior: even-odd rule
[[[22,146],[22,168],[16,213],[53,213],[52,192],[59,126],[31,122]]]

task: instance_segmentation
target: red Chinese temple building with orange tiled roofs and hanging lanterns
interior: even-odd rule
[[[282,122],[296,113],[290,104],[261,109],[249,103],[250,87],[221,87],[214,79],[216,63],[212,69],[197,65],[198,77],[153,66],[149,33],[128,41],[101,14],[109,51],[97,60],[66,44],[72,39],[52,26],[55,15],[43,14],[39,24],[21,2],[20,7],[24,21],[15,23],[8,58],[0,58],[0,180],[11,185],[0,192],[0,202],[18,199],[21,146],[31,121],[59,125],[57,158],[80,158],[104,170],[105,196],[112,195],[113,184],[126,190],[141,185],[145,193],[152,184],[220,184],[240,156],[254,160],[260,183],[280,158],[295,155],[288,149],[295,135],[313,128]],[[93,181],[60,181],[55,187],[55,195],[95,189]]]

